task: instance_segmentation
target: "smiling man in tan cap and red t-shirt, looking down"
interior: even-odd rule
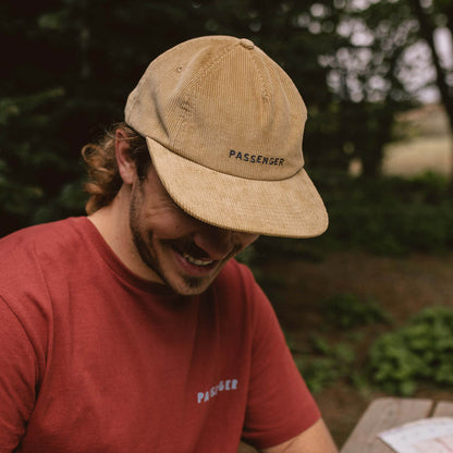
[[[233,258],[328,223],[306,110],[247,39],[147,69],[88,145],[88,217],[0,243],[0,452],[336,451],[271,306]]]

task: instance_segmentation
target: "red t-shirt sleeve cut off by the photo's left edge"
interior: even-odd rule
[[[36,399],[37,362],[21,322],[0,297],[0,453],[25,433]]]

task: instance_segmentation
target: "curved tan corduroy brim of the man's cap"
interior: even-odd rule
[[[154,167],[185,212],[226,230],[285,237],[314,237],[328,226],[326,207],[304,169],[281,181],[220,173],[146,138]]]

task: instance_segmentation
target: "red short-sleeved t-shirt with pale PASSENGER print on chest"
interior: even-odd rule
[[[0,241],[0,452],[236,452],[319,418],[231,260],[207,292],[131,273],[86,218]]]

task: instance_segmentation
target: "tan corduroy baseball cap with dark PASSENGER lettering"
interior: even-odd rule
[[[304,169],[307,110],[289,75],[248,39],[191,39],[154,60],[125,121],[191,216],[223,229],[311,237],[328,226]]]

